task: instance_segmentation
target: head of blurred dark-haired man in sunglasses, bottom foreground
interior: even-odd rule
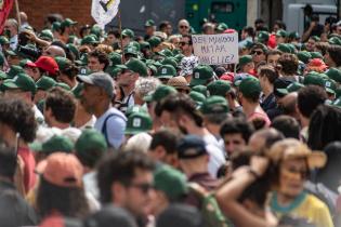
[[[107,156],[97,174],[102,203],[126,209],[144,226],[150,210],[153,171],[154,162],[143,152]]]

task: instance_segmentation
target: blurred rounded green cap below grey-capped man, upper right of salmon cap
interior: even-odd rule
[[[83,130],[75,144],[76,155],[87,158],[92,158],[89,153],[92,150],[100,150],[104,153],[107,148],[104,135],[94,129]]]

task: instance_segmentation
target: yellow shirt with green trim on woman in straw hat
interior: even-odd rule
[[[280,206],[277,202],[277,195],[274,192],[271,198],[271,209],[279,218],[288,215],[304,218],[316,227],[333,227],[328,206],[315,196],[306,192],[298,196],[288,206]]]

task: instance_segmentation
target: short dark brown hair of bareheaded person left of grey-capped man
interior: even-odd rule
[[[45,109],[51,108],[54,118],[63,123],[70,123],[76,112],[76,101],[71,93],[55,86],[45,98]]]

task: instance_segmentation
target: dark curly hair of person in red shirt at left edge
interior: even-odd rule
[[[30,143],[36,138],[37,121],[31,107],[18,98],[0,98],[0,122],[9,125],[21,138]]]

